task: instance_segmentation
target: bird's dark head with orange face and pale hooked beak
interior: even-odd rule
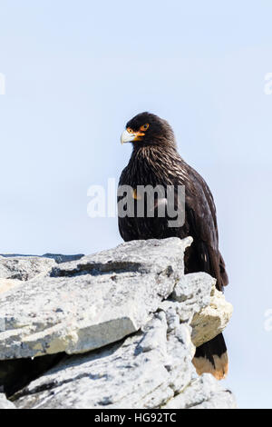
[[[121,134],[121,144],[123,143],[133,143],[134,146],[176,146],[170,124],[151,113],[137,114],[126,124],[126,130]]]

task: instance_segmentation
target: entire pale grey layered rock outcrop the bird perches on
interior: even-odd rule
[[[0,257],[0,408],[235,407],[191,363],[232,307],[209,274],[184,274],[190,243]]]

